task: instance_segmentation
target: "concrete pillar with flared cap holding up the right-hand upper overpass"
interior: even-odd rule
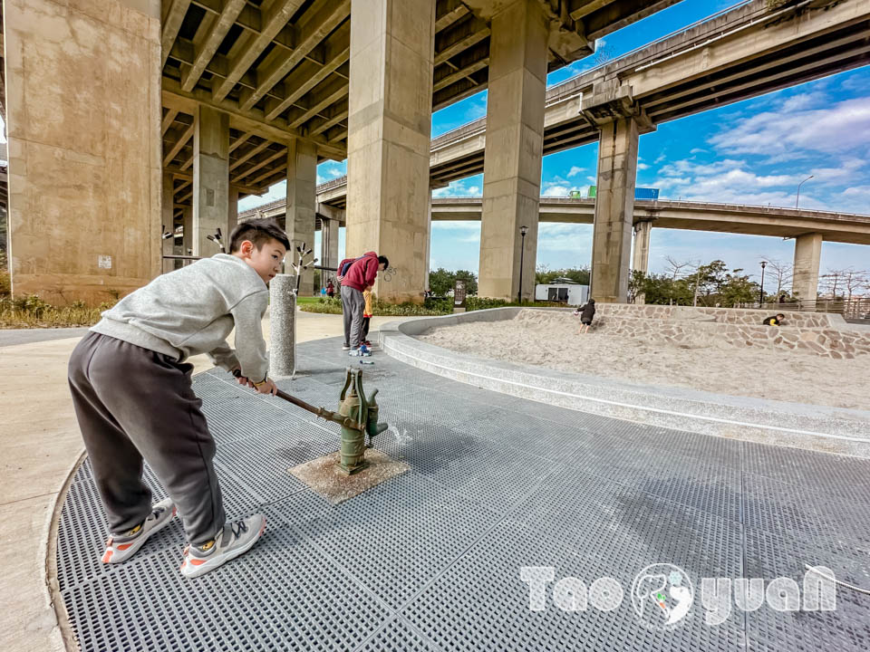
[[[600,134],[590,296],[623,303],[628,297],[638,138],[654,128],[633,101],[631,89],[618,80],[596,83],[581,111]]]

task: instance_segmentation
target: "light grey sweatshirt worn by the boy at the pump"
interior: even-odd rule
[[[237,256],[215,254],[158,276],[102,313],[91,330],[165,353],[179,362],[207,353],[218,367],[259,382],[268,359],[263,315],[266,283]],[[227,346],[236,328],[236,350]]]

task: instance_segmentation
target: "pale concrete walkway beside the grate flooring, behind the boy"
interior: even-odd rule
[[[375,317],[372,329],[394,319]],[[342,318],[300,312],[297,327],[299,341],[319,340],[340,334]],[[268,320],[264,333],[268,339]],[[0,595],[7,597],[0,644],[9,651],[64,649],[46,559],[58,493],[82,455],[66,383],[67,361],[80,336],[53,340],[56,334],[0,331]],[[10,343],[23,338],[39,341]],[[191,361],[197,373],[211,369],[205,356]]]

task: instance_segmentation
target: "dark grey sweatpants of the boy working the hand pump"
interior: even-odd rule
[[[179,510],[188,542],[213,539],[226,516],[193,365],[108,335],[90,332],[70,359],[75,414],[111,532],[151,511],[144,458]]]

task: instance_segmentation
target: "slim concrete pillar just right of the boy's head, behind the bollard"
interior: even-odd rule
[[[306,140],[293,139],[287,146],[287,204],[285,230],[290,240],[287,260],[299,259],[296,246],[314,249],[314,226],[317,222],[317,146]],[[315,256],[316,257],[316,256]],[[287,269],[287,273],[290,270]],[[320,288],[317,288],[319,291]],[[302,273],[299,293],[314,292],[314,268]]]

